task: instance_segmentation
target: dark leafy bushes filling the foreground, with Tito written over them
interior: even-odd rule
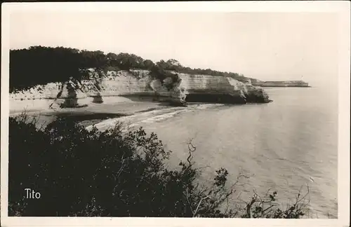
[[[157,135],[143,128],[91,131],[58,118],[46,128],[23,114],[9,118],[9,216],[164,216],[300,218],[305,196],[287,209],[277,209],[277,192],[260,198],[256,193],[246,207],[230,205],[235,186],[227,185],[221,168],[211,185],[199,184],[201,171],[192,160],[196,148],[179,168],[165,163]],[[25,188],[41,193],[26,199]]]

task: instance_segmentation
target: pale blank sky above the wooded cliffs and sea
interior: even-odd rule
[[[10,41],[11,49],[65,46],[176,59],[263,81],[313,85],[338,76],[333,13],[22,11],[11,13]]]

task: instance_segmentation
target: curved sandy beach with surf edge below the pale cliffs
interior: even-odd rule
[[[119,97],[122,99],[110,99],[102,104],[90,104],[79,108],[62,108],[62,109],[27,109],[20,111],[19,109],[10,109],[9,117],[20,116],[27,114],[27,121],[30,122],[37,118],[36,125],[38,128],[45,128],[49,123],[52,123],[57,118],[62,117],[79,123],[79,125],[87,128],[89,126],[101,123],[109,119],[123,118],[128,116],[136,116],[138,114],[152,113],[152,111],[160,111],[173,108],[182,108],[175,106],[169,102],[155,101],[152,97]],[[18,101],[19,102],[19,101]],[[26,101],[20,101],[26,102]],[[188,108],[193,105],[201,104],[218,104],[228,106],[241,106],[244,104],[221,104],[216,102],[189,102]],[[251,104],[251,103],[249,103]],[[191,107],[190,107],[191,109]]]

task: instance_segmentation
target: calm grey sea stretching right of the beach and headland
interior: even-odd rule
[[[337,93],[320,88],[265,90],[274,102],[194,105],[149,118],[144,114],[143,121],[134,123],[157,132],[173,151],[170,165],[186,160],[187,142],[193,138],[194,160],[205,167],[203,179],[212,179],[219,167],[230,172],[232,182],[239,172],[250,175],[239,187],[240,198],[272,188],[284,206],[308,185],[310,217],[336,218]]]

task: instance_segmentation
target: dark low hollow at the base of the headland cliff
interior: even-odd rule
[[[221,104],[245,104],[246,100],[229,94],[189,94],[185,102],[208,102]]]

